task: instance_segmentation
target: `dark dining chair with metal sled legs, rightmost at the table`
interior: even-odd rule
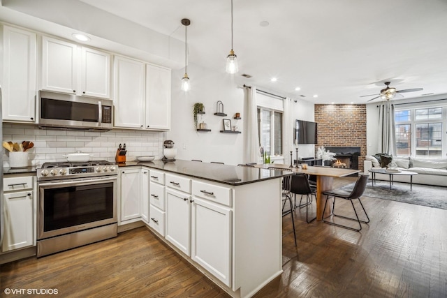
[[[324,214],[324,212],[326,210],[326,205],[328,204],[329,198],[332,197],[332,198],[334,198],[334,200],[332,201],[332,212],[329,214],[329,216],[323,217],[323,221],[325,223],[330,224],[330,225],[337,225],[337,226],[342,227],[342,228],[346,228],[346,229],[349,229],[349,230],[354,230],[354,231],[360,232],[360,230],[362,230],[362,224],[361,223],[369,223],[369,216],[368,216],[368,214],[367,214],[367,212],[365,210],[365,207],[363,207],[362,201],[360,200],[360,197],[365,192],[368,178],[369,178],[369,174],[362,174],[362,175],[360,175],[360,177],[358,177],[358,179],[356,181],[356,185],[354,186],[354,188],[352,189],[351,192],[344,191],[342,189],[335,189],[335,190],[332,190],[332,191],[324,191],[323,195],[326,195],[326,202],[324,204],[323,214]],[[356,218],[351,218],[351,217],[335,214],[335,199],[336,198],[340,198],[340,199],[343,199],[343,200],[351,201],[351,205],[352,205],[352,207],[354,209],[354,213],[356,214]],[[356,210],[356,207],[354,206],[353,200],[358,200],[358,202],[360,202],[360,206],[362,207],[363,212],[365,212],[365,216],[367,218],[366,221],[360,221],[360,219],[358,218],[357,210]],[[326,218],[329,218],[330,216],[338,216],[338,217],[341,217],[341,218],[349,219],[351,221],[357,221],[358,225],[359,225],[359,228],[356,229],[356,228],[352,228],[352,227],[350,227],[348,225],[341,225],[339,223],[334,223],[333,222],[333,218],[332,218],[332,221],[326,221]]]

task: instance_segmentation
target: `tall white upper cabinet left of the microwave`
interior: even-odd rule
[[[34,122],[36,34],[3,27],[3,120]]]

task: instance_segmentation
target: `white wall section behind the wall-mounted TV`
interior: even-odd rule
[[[292,101],[292,121],[291,124],[293,128],[295,128],[295,120],[305,120],[305,121],[315,121],[315,109],[314,103],[310,103],[309,101],[303,99],[295,99]],[[285,151],[287,154],[290,154],[290,151],[293,151],[293,159],[296,159],[296,151],[295,145],[291,149],[287,149]],[[298,158],[300,157],[315,157],[315,145],[314,144],[298,144]]]

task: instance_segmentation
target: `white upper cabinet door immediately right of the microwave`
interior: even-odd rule
[[[143,128],[145,111],[145,64],[115,56],[115,127]]]

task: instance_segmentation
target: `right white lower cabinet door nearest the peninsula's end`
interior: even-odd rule
[[[191,259],[231,283],[231,209],[193,196]]]

